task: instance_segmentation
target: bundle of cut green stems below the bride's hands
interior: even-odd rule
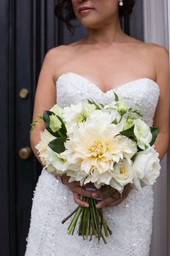
[[[64,218],[63,221],[61,221],[61,223],[65,223],[68,218],[71,218],[71,216],[73,216],[74,214],[74,217],[70,225],[68,226],[67,234],[73,235],[73,232],[76,228],[76,223],[80,218],[78,229],[79,236],[83,236],[84,239],[88,239],[89,237],[89,241],[91,241],[92,236],[96,236],[96,238],[98,239],[98,243],[102,238],[104,244],[107,244],[104,236],[111,236],[112,231],[109,229],[107,221],[103,218],[102,208],[96,208],[96,199],[83,197],[82,200],[84,202],[89,202],[89,208],[84,208],[79,205],[75,210],[73,210],[71,214],[69,214],[68,217]],[[104,234],[102,228],[104,229]]]

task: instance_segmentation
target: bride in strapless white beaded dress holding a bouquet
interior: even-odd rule
[[[71,20],[77,18],[88,34],[82,40],[55,47],[46,54],[37,82],[33,120],[56,102],[62,108],[86,98],[109,103],[114,89],[129,106],[142,112],[149,126],[160,127],[155,145],[161,160],[169,142],[169,57],[164,47],[143,43],[122,31],[119,14],[128,14],[132,8],[133,0],[58,1],[57,16],[68,28]],[[42,123],[37,124],[30,137],[39,161],[35,145],[43,129]],[[93,185],[86,184],[86,187]],[[68,176],[60,180],[42,168],[32,202],[25,256],[149,254],[153,187],[137,191],[127,185],[122,197],[118,198],[117,192],[117,200],[109,195],[102,198],[107,194],[105,187],[96,192],[86,187],[80,187],[79,182],[68,183]],[[97,208],[103,208],[113,231],[107,244],[66,233],[68,223],[63,225],[63,218],[76,205],[89,207],[81,195],[100,197]]]

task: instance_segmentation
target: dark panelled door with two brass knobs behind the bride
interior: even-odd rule
[[[23,256],[33,191],[40,165],[30,150],[30,123],[37,76],[45,53],[86,35],[79,25],[71,37],[54,17],[54,0],[0,1],[1,179],[0,255]],[[122,27],[143,40],[142,0]]]

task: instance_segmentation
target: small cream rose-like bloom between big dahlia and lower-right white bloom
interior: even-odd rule
[[[110,186],[117,189],[120,193],[126,184],[133,184],[133,166],[125,158],[115,163],[115,176],[110,180]]]

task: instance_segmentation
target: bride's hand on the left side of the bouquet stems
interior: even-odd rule
[[[66,186],[68,186],[68,188],[73,192],[73,199],[74,202],[76,202],[76,204],[81,205],[82,207],[89,207],[89,203],[88,202],[84,202],[81,200],[81,195],[84,197],[91,197],[92,193],[94,191],[88,191],[85,189],[85,187],[91,187],[97,190],[97,188],[92,184],[86,184],[83,185],[81,187],[80,182],[68,182],[68,180],[70,179],[69,176],[66,176],[66,174],[63,174],[63,176],[61,177],[63,184],[65,184]]]

